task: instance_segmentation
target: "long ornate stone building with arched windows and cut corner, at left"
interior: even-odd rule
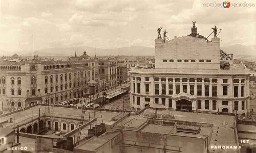
[[[0,62],[0,104],[17,108],[83,97],[94,69],[94,60]]]

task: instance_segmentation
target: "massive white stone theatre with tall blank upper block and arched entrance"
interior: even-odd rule
[[[155,39],[155,68],[131,68],[131,106],[250,113],[249,69],[234,65],[220,50],[220,38],[197,34]]]

